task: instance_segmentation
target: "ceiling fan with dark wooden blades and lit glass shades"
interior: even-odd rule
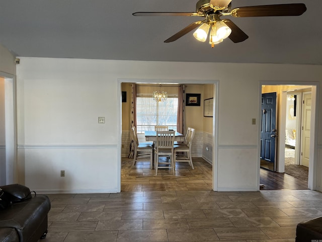
[[[199,0],[196,12],[136,12],[134,16],[197,16],[204,17],[180,30],[164,42],[173,42],[195,28],[194,37],[205,42],[209,35],[211,47],[229,37],[234,43],[244,41],[248,35],[237,27],[230,19],[221,19],[222,16],[232,17],[268,17],[268,16],[299,16],[306,11],[304,4],[277,4],[239,7],[231,9],[231,0]]]

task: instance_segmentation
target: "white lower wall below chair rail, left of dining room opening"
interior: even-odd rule
[[[25,184],[39,193],[118,192],[118,152],[117,145],[18,146]]]

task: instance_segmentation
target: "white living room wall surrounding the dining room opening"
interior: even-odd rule
[[[21,182],[40,192],[119,191],[118,79],[219,80],[215,188],[256,191],[260,82],[319,84],[321,74],[320,66],[21,57],[17,68],[18,159],[19,171],[25,174]],[[106,117],[105,124],[98,124],[99,116]],[[252,118],[257,125],[252,125]],[[321,154],[320,128],[317,135]],[[322,171],[321,165],[317,167]],[[60,177],[60,170],[65,170],[65,177]],[[322,187],[320,179],[317,185]]]

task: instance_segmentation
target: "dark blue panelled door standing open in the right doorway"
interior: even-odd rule
[[[276,171],[276,92],[262,94],[261,167]]]

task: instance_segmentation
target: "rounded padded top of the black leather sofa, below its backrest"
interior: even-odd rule
[[[37,195],[30,200],[13,204],[3,210],[0,217],[0,228],[15,228],[20,241],[26,241],[32,237],[39,224],[47,218],[49,210],[49,198],[46,195]]]

